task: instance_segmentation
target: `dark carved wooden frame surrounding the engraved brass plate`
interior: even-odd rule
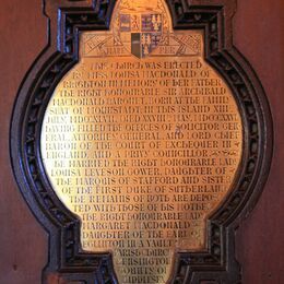
[[[174,28],[205,34],[205,58],[225,79],[245,128],[244,157],[234,190],[208,223],[208,252],[179,253],[171,283],[240,283],[235,230],[255,206],[272,156],[272,119],[264,91],[248,61],[233,46],[234,0],[167,0]],[[46,0],[48,46],[19,91],[11,125],[11,157],[20,189],[49,234],[43,283],[117,283],[109,253],[80,251],[80,222],[59,201],[39,153],[45,109],[58,82],[78,61],[80,31],[108,29],[115,0]],[[59,282],[61,283],[61,282]]]

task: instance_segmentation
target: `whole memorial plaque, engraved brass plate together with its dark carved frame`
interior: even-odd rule
[[[55,248],[45,281],[237,282],[234,220],[261,188],[269,118],[226,46],[234,9],[73,2],[47,8],[61,54],[38,61],[14,122]]]

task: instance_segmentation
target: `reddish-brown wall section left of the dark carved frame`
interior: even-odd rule
[[[36,284],[47,262],[47,236],[13,178],[9,128],[17,88],[47,43],[40,0],[1,0],[0,36],[0,283]]]

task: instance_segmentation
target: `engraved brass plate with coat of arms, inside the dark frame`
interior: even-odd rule
[[[52,188],[119,283],[166,283],[176,251],[204,250],[241,161],[240,114],[203,32],[171,26],[162,0],[118,1],[110,32],[81,34],[43,122]]]

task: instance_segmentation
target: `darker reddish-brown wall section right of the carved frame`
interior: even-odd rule
[[[237,233],[244,283],[284,283],[284,1],[239,0],[235,45],[258,73],[271,105],[274,156],[263,194]]]

